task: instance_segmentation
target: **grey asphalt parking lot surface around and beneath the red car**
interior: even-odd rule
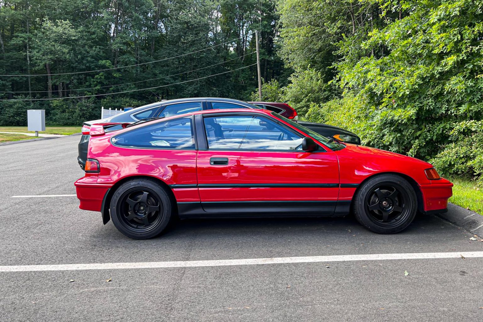
[[[0,266],[60,265],[0,267],[0,321],[483,321],[483,258],[460,256],[482,252],[483,242],[436,216],[419,216],[396,235],[371,233],[350,217],[220,219],[132,240],[80,210],[75,196],[12,197],[75,194],[78,140],[0,146]],[[442,252],[456,256],[313,260]],[[301,256],[310,260],[244,261]],[[162,264],[217,260],[240,261]],[[145,262],[161,267],[62,268]]]

